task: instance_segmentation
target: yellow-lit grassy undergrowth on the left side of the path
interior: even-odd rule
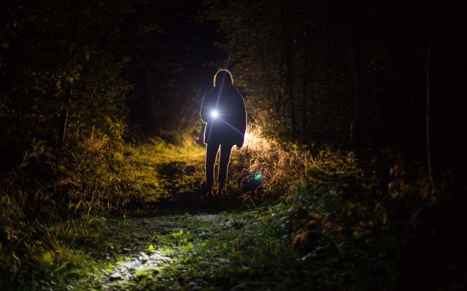
[[[0,287],[28,286],[44,276],[68,277],[87,260],[80,248],[109,215],[144,214],[171,198],[173,173],[161,164],[198,163],[199,146],[149,138],[138,145],[88,141],[55,153],[33,141],[1,183]],[[192,172],[199,169],[192,166]],[[162,173],[162,174],[161,174]],[[185,192],[201,174],[181,181]],[[56,280],[56,279],[55,279]]]

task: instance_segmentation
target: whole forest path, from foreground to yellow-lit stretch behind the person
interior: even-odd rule
[[[263,229],[257,214],[241,207],[238,193],[209,205],[202,198],[203,148],[156,152],[145,149],[138,157],[157,177],[158,208],[103,219],[101,239],[86,247],[86,275],[67,289],[269,290],[272,281],[281,281],[271,278],[264,245],[247,243]],[[252,266],[257,256],[259,269]]]

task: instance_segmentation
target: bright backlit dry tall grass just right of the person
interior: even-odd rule
[[[304,187],[307,179],[306,169],[317,169],[332,175],[357,171],[352,155],[345,155],[328,146],[315,148],[288,141],[269,138],[261,127],[249,126],[245,144],[240,151],[234,151],[233,160],[239,160],[249,176],[248,179],[260,178],[258,187],[248,193],[263,197],[293,195]]]

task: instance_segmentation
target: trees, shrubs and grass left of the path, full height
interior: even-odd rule
[[[148,145],[133,132],[135,126],[128,127],[128,108],[135,95],[142,95],[141,84],[132,78],[145,69],[143,64],[159,66],[148,80],[165,75],[169,88],[175,87],[173,76],[181,73],[180,66],[164,66],[167,59],[162,54],[148,60],[153,51],[141,53],[147,39],[153,43],[146,49],[154,49],[164,33],[154,19],[140,25],[141,33],[127,30],[145,9],[161,15],[174,6],[160,4],[8,0],[0,5],[0,194],[5,230],[0,235],[0,288],[75,269],[86,259],[75,247],[76,240],[92,237],[96,217],[147,211],[169,196],[170,185],[152,176],[145,160],[154,149],[157,159],[199,154],[194,147],[180,151],[160,139]],[[133,43],[137,49],[127,49]],[[187,104],[196,98],[174,92],[167,91],[165,98],[177,96],[175,103],[181,108],[190,108]],[[177,106],[173,109],[181,113]],[[166,135],[183,144],[195,114],[177,118]],[[172,121],[175,115],[172,112]],[[176,130],[180,134],[174,134]],[[135,149],[124,137],[146,146]],[[37,272],[32,272],[35,267]]]

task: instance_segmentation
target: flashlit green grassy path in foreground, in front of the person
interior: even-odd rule
[[[105,231],[108,247],[69,290],[276,290],[290,279],[275,268],[288,269],[293,257],[270,239],[256,241],[263,226],[251,212],[111,218]],[[279,290],[301,289],[285,286]]]

